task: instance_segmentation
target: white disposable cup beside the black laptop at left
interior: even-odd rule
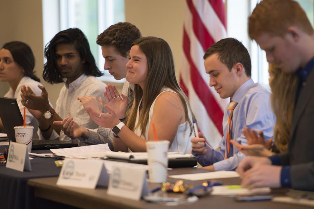
[[[15,126],[15,141],[19,144],[27,145],[27,150],[30,152],[32,150],[32,141],[33,141],[33,129],[34,126],[25,125],[24,126]]]

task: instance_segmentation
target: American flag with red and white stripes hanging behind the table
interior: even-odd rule
[[[228,100],[209,86],[203,55],[210,45],[227,37],[225,5],[222,0],[186,0],[185,6],[180,85],[198,120],[198,129],[217,147]]]

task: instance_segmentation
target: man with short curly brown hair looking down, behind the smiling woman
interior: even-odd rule
[[[125,78],[127,74],[126,64],[129,61],[129,52],[133,41],[141,38],[142,34],[138,28],[131,23],[116,23],[107,28],[103,33],[97,36],[96,43],[101,46],[102,56],[105,59],[104,69],[116,79],[121,80]],[[108,89],[108,87],[106,88]],[[127,114],[128,118],[129,110],[133,104],[133,84],[125,82],[122,88],[122,94],[127,96]],[[79,98],[85,107],[97,107],[98,100],[96,98],[84,96]],[[120,97],[111,101],[118,103],[121,100]],[[102,107],[101,107],[102,108]],[[125,118],[121,118],[121,121],[126,121]],[[114,134],[110,128],[99,127],[98,129],[91,130],[78,125],[75,119],[66,118],[59,122],[63,124],[65,134],[71,138],[78,138],[84,142],[91,144],[108,143],[109,148],[113,150],[113,137]],[[117,136],[116,136],[117,137]]]

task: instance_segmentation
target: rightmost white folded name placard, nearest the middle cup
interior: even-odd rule
[[[149,193],[146,172],[130,167],[114,166],[107,193],[132,200],[139,200]]]

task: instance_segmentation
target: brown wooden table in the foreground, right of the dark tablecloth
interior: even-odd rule
[[[169,171],[169,175],[187,174],[187,173],[200,173],[209,172],[204,169],[196,168],[179,168]],[[168,181],[175,182],[177,179],[168,178]],[[224,185],[240,184],[239,178],[221,179]],[[228,198],[223,196],[206,196],[200,198],[198,202],[191,205],[179,205],[179,206],[162,206],[158,203],[148,203],[144,200],[134,201],[121,197],[111,196],[107,194],[107,189],[104,187],[97,187],[95,190],[74,188],[68,186],[57,186],[57,177],[48,178],[34,178],[28,181],[28,184],[34,187],[35,197],[40,197],[50,201],[56,201],[63,204],[79,207],[79,208],[304,208],[304,206],[296,206],[282,203],[275,203],[271,201],[254,201],[254,202],[239,202],[234,198]],[[199,185],[203,181],[188,181],[185,183],[191,185]],[[157,184],[149,184],[150,188],[154,188]],[[272,190],[274,195],[283,195],[285,189]],[[177,194],[173,194],[177,195]]]

